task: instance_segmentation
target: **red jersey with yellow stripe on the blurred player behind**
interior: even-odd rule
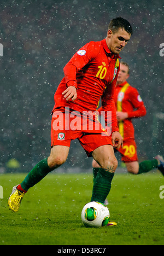
[[[137,89],[127,82],[116,86],[114,98],[117,111],[128,113],[128,118],[119,122],[119,131],[124,139],[134,138],[132,118],[143,117],[147,113],[142,98]]]

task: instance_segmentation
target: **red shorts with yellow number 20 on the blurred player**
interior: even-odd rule
[[[123,162],[138,161],[137,146],[133,138],[125,139],[123,148],[120,147],[118,151],[122,155]]]

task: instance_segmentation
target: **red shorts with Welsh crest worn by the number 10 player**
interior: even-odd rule
[[[85,116],[76,111],[55,110],[51,121],[51,147],[70,147],[73,139],[78,139],[87,156],[104,145],[112,145],[112,140],[96,115]]]

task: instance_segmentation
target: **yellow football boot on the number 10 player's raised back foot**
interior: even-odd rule
[[[9,200],[8,200],[8,206],[10,208],[11,211],[13,212],[17,212],[19,210],[19,207],[20,207],[20,204],[21,204],[21,201],[25,195],[24,192],[21,192],[19,190],[17,190],[17,186],[16,185],[13,190],[12,190],[12,193],[9,197]]]

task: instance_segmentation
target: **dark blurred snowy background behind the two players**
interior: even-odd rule
[[[133,27],[120,56],[131,67],[128,82],[147,107],[147,116],[133,121],[139,161],[164,154],[163,9],[162,0],[1,1],[0,172],[29,172],[49,155],[50,114],[63,67],[81,46],[104,39],[117,16]],[[19,165],[13,168],[11,159]],[[74,141],[61,170],[85,172],[91,160]]]

